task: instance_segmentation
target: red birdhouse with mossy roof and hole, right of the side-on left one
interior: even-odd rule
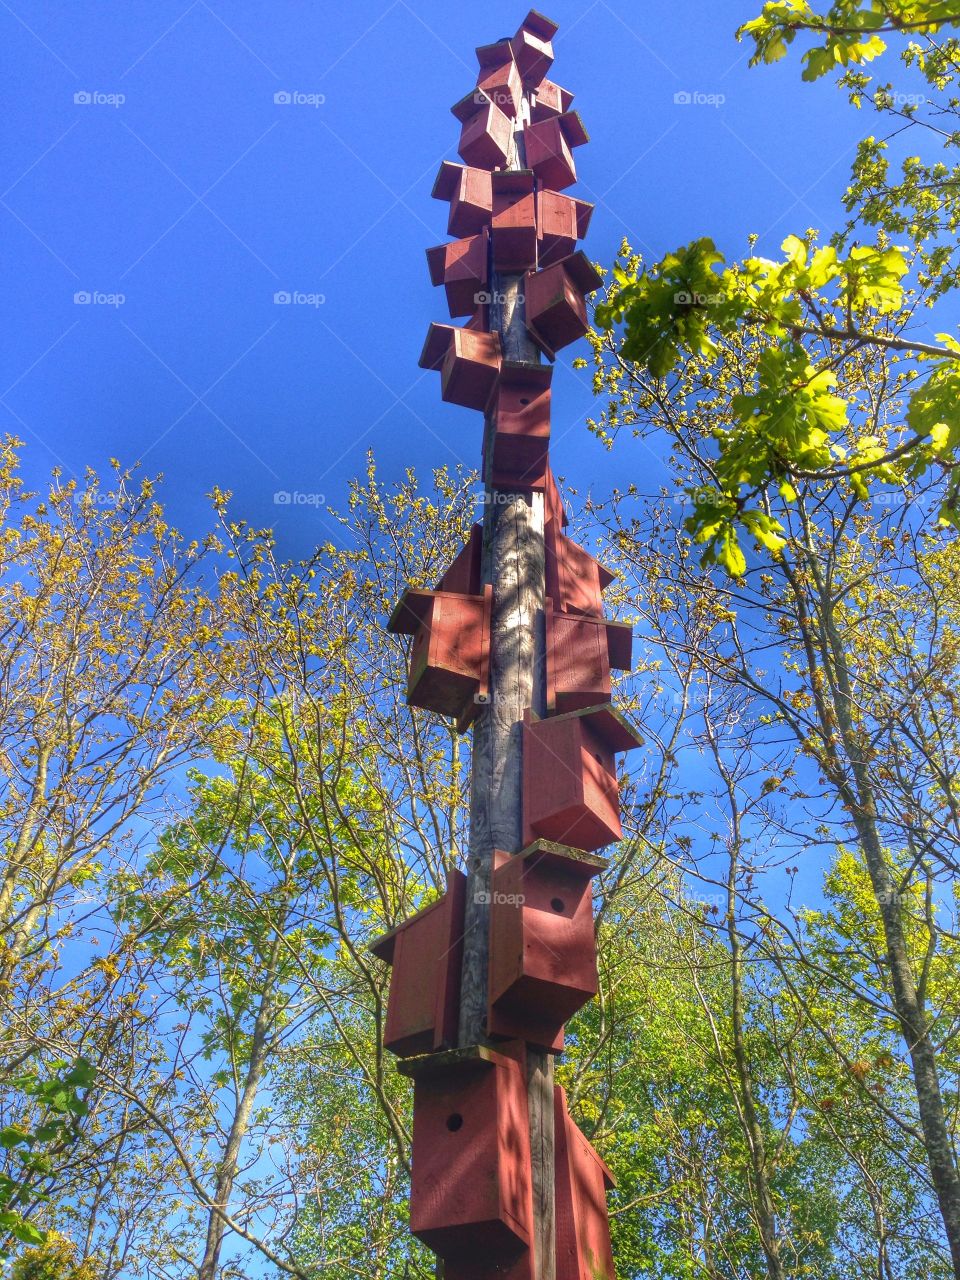
[[[602,858],[539,840],[494,854],[486,1029],[548,1050],[596,995],[591,878]]]

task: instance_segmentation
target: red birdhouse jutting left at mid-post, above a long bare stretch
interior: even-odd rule
[[[407,701],[453,716],[460,732],[490,700],[490,612],[493,588],[481,595],[403,593],[387,630],[412,635]]]

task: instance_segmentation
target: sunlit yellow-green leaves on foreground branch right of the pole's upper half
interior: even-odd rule
[[[704,563],[735,575],[746,568],[739,532],[768,552],[783,545],[777,500],[796,499],[800,477],[840,477],[860,500],[870,484],[905,485],[933,463],[951,467],[960,445],[960,343],[940,334],[941,348],[891,335],[904,306],[904,252],[888,244],[847,253],[787,237],[783,259],[748,257],[726,266],[710,239],[699,239],[643,269],[634,257],[613,268],[596,323],[623,325],[622,356],[657,378],[687,357],[710,360],[740,335],[756,349],[753,385],[731,402],[733,422],[714,429],[714,484],[692,490],[686,527],[704,544]],[[819,358],[812,338],[824,349]],[[836,394],[845,347],[876,343],[916,349],[931,374],[909,402],[909,430],[879,434],[858,426],[854,404]],[[940,518],[957,524],[951,490]]]

